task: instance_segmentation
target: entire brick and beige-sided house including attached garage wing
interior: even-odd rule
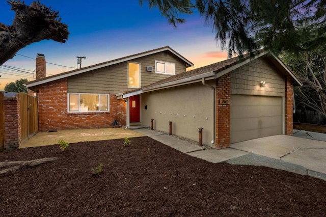
[[[41,59],[42,60],[42,59]],[[45,60],[44,60],[45,61]],[[214,148],[292,134],[293,85],[302,85],[276,56],[193,64],[170,47],[39,78],[39,129],[108,127],[115,119],[169,131]],[[42,76],[41,76],[42,77]]]

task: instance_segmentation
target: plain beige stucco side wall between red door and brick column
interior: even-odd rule
[[[207,84],[215,86],[215,80]],[[211,145],[214,140],[214,91],[202,83],[184,85],[153,91],[141,95],[142,124],[172,134],[199,141],[198,128],[203,128],[203,144]],[[145,110],[147,105],[147,110]],[[214,146],[214,144],[213,144]]]

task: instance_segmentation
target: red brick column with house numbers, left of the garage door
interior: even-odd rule
[[[231,78],[225,74],[216,79],[216,140],[217,149],[230,146],[230,104],[220,104],[220,99],[231,100]]]

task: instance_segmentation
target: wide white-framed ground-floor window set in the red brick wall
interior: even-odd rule
[[[108,94],[69,93],[69,112],[109,112]]]

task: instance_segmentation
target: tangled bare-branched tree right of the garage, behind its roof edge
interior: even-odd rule
[[[303,83],[294,89],[295,103],[326,118],[326,46],[295,57],[284,53],[281,58]]]

